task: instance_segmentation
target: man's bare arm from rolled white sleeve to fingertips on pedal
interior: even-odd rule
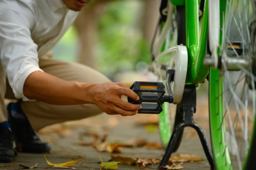
[[[139,96],[122,83],[80,83],[65,81],[45,72],[31,73],[25,81],[23,94],[49,104],[96,104],[103,112],[129,116],[138,113],[139,104],[124,101],[122,95],[138,100]]]

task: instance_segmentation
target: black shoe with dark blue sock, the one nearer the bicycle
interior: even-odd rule
[[[12,107],[19,107],[21,110],[20,102],[9,103],[6,108],[8,122],[14,135],[15,144],[16,146],[20,145],[21,152],[44,153],[50,151],[50,144],[40,140],[37,132],[32,129],[27,118],[25,120],[17,120],[12,116]]]

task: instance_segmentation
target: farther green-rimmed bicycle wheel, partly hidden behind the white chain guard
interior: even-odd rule
[[[170,28],[168,39],[165,41],[166,49],[169,47],[174,47],[176,45],[186,44],[185,37],[185,8],[183,6],[176,6],[172,15],[172,26]],[[167,60],[169,58],[159,59],[159,64],[165,65],[169,63]],[[167,66],[169,68],[170,66]],[[159,81],[166,84],[165,78],[159,77]],[[172,103],[163,103],[163,112],[159,114],[159,131],[160,131],[160,139],[162,142],[162,146],[164,149],[168,146],[169,140],[171,138],[171,134],[173,129],[177,124],[179,124],[183,118],[182,113],[180,112],[179,104]],[[183,130],[177,139],[176,145],[174,147],[175,152],[180,145],[182,138]]]

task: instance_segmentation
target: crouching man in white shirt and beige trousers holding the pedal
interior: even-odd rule
[[[141,105],[122,83],[48,52],[89,0],[0,0],[0,162],[14,157],[12,135],[24,152],[49,151],[36,131],[105,112],[135,115]],[[6,80],[7,78],[7,80]],[[4,98],[19,99],[6,108]]]

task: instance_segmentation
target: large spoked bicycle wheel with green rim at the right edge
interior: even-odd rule
[[[227,0],[221,9],[225,11],[221,12],[221,68],[210,68],[209,74],[214,161],[216,169],[221,170],[256,169],[252,162],[256,144],[252,1]]]

